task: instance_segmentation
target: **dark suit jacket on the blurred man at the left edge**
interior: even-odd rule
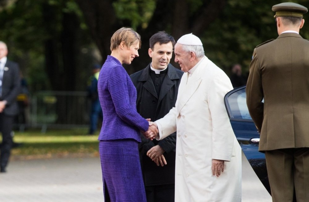
[[[6,100],[7,104],[3,113],[14,116],[18,113],[16,97],[20,93],[19,66],[15,62],[7,60],[4,67],[1,100]]]

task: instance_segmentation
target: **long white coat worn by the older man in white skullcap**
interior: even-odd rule
[[[239,202],[241,148],[224,105],[231,81],[206,56],[192,70],[181,78],[175,107],[155,121],[160,138],[177,131],[175,202]],[[219,177],[212,159],[225,160]]]

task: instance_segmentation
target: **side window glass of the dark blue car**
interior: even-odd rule
[[[228,97],[232,117],[236,119],[251,119],[246,102],[246,88],[235,91]]]

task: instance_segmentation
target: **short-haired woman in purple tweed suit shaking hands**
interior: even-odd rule
[[[145,201],[139,162],[140,131],[149,133],[149,122],[136,110],[136,89],[122,64],[138,57],[140,35],[122,27],[111,38],[111,55],[102,66],[98,80],[103,124],[99,134],[105,201]]]

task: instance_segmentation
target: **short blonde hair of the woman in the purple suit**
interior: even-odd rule
[[[111,38],[111,51],[117,49],[122,41],[125,42],[127,47],[130,47],[136,40],[139,40],[139,48],[141,48],[141,36],[132,28],[121,27],[113,34]]]

